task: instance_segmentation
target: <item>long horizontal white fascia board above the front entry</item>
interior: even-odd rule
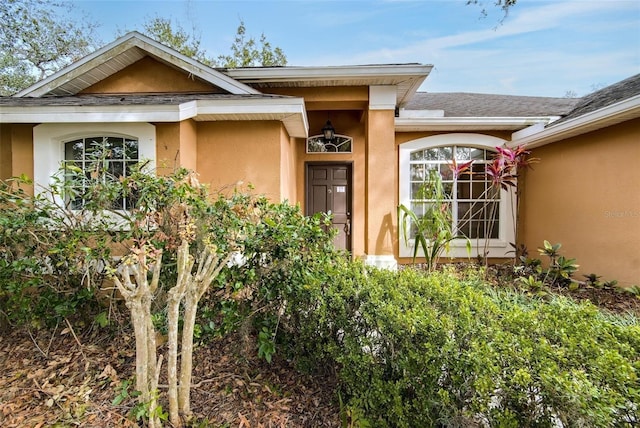
[[[356,66],[319,66],[319,67],[266,67],[266,68],[230,68],[225,73],[234,79],[249,82],[279,82],[296,80],[341,80],[353,78],[424,75],[426,77],[432,65],[356,65]]]

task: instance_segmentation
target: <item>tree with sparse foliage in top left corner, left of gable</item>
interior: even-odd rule
[[[11,95],[93,50],[96,24],[76,21],[58,3],[0,2],[0,95]]]

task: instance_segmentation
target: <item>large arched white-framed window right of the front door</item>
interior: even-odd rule
[[[450,245],[449,256],[472,254],[506,257],[514,240],[513,195],[491,186],[485,174],[495,147],[504,140],[480,134],[443,134],[421,138],[400,146],[400,203],[418,216],[435,202],[422,190],[429,174],[437,172],[443,186],[443,202],[451,212],[451,230],[459,239]],[[471,162],[455,173],[456,166]],[[412,232],[412,233],[415,233]],[[413,255],[413,240],[400,242],[400,256]],[[446,254],[444,254],[446,256]]]

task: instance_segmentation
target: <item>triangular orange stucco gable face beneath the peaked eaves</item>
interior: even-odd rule
[[[81,94],[227,93],[189,73],[144,57],[82,90]]]

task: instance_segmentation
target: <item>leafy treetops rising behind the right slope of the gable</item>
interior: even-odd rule
[[[180,24],[173,23],[170,19],[155,17],[144,24],[143,32],[152,39],[208,66],[238,68],[287,65],[287,57],[282,49],[273,48],[264,33],[260,36],[259,42],[253,37],[247,39],[247,29],[242,20],[231,45],[231,53],[218,55],[217,59],[210,57],[201,48],[202,39],[195,29],[189,34]]]

